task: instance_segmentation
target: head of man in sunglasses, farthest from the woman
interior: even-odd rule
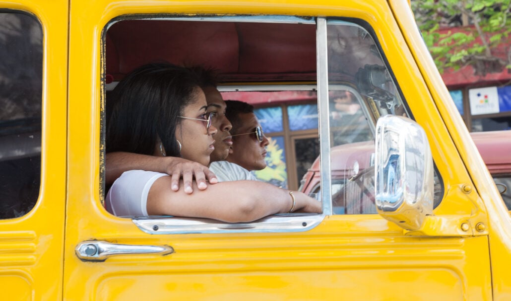
[[[227,119],[233,124],[233,152],[227,161],[252,171],[266,167],[266,146],[269,144],[253,106],[240,101],[226,101]]]

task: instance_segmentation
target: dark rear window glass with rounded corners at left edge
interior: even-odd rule
[[[42,29],[24,13],[0,12],[0,218],[28,213],[39,195]]]

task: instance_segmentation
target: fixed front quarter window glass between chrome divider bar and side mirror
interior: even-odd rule
[[[331,126],[332,209],[377,213],[374,205],[374,130],[380,116],[410,117],[378,45],[363,27],[327,22]],[[438,177],[435,205],[442,195]]]

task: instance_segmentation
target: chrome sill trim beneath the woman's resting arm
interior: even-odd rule
[[[311,230],[320,224],[324,217],[324,214],[288,213],[237,223],[172,216],[134,217],[132,221],[138,229],[148,234],[282,233]]]

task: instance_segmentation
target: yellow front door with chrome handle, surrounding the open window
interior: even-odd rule
[[[305,232],[158,234],[157,230],[147,233],[147,229],[139,229],[131,219],[107,213],[102,207],[101,182],[103,30],[115,17],[158,13],[343,15],[361,18],[375,27],[386,20],[375,30],[386,55],[399,53],[405,45],[399,31],[392,31],[398,27],[391,22],[393,15],[383,1],[377,5],[321,1],[307,9],[299,1],[72,2],[65,299],[491,299],[487,236],[405,236],[400,227],[375,214],[326,216]],[[411,55],[406,52],[404,57],[410,59]],[[424,102],[417,101],[412,110],[434,115],[440,124],[438,131],[448,137],[417,68],[409,68],[410,62],[397,55],[391,56],[390,64],[398,70],[398,80],[410,78],[405,80],[405,96],[412,96],[414,86],[424,92],[419,98]],[[426,118],[428,114],[417,113],[424,123],[431,120]],[[433,135],[431,128],[428,131]],[[436,147],[435,156],[440,157],[438,148],[443,147],[454,153],[452,141],[448,141]],[[458,159],[453,160],[462,169]],[[442,171],[446,169],[442,167]],[[446,171],[445,178],[448,184],[470,181],[465,170],[452,175]],[[455,206],[449,205],[453,200],[443,199],[444,212],[470,212],[469,202],[462,200],[459,212],[454,212]],[[172,252],[92,258],[103,242],[115,244],[113,248],[165,246]],[[85,256],[79,258],[80,252]]]

